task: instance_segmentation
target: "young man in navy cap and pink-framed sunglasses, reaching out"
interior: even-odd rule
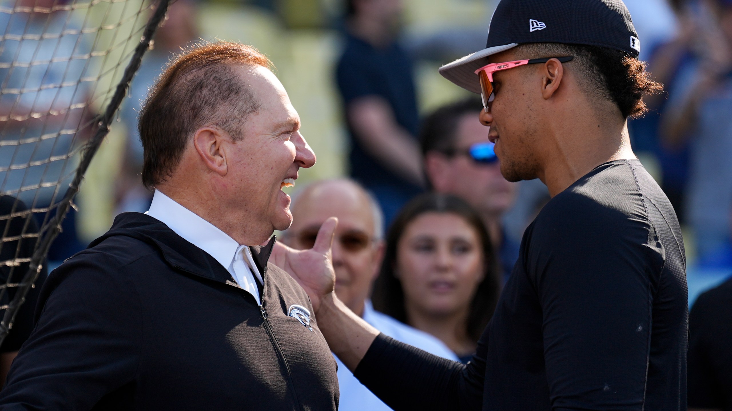
[[[313,249],[275,260],[307,290],[331,349],[395,410],[686,410],[684,246],[630,148],[626,119],[660,88],[630,13],[619,0],[502,0],[489,33],[441,73],[482,91],[504,177],[538,177],[553,198],[473,360],[395,342],[338,301],[335,219]]]

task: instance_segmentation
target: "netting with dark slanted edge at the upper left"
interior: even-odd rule
[[[167,7],[0,1],[0,344]]]

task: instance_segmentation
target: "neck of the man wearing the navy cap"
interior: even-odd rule
[[[581,117],[581,116],[580,116]],[[585,118],[597,118],[587,116]],[[562,121],[547,127],[550,146],[543,155],[538,177],[554,197],[598,165],[619,159],[635,159],[626,121]]]

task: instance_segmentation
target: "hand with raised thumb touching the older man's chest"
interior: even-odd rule
[[[337,225],[337,218],[326,219],[318,230],[312,249],[296,250],[277,241],[269,256],[271,263],[287,271],[305,289],[315,313],[320,309],[323,298],[333,293],[335,286],[331,246]]]

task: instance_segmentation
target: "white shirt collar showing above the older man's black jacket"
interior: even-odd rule
[[[157,190],[145,214],[159,219],[185,241],[209,253],[261,305],[256,281],[262,284],[262,276],[249,246],[239,245],[234,238]]]

